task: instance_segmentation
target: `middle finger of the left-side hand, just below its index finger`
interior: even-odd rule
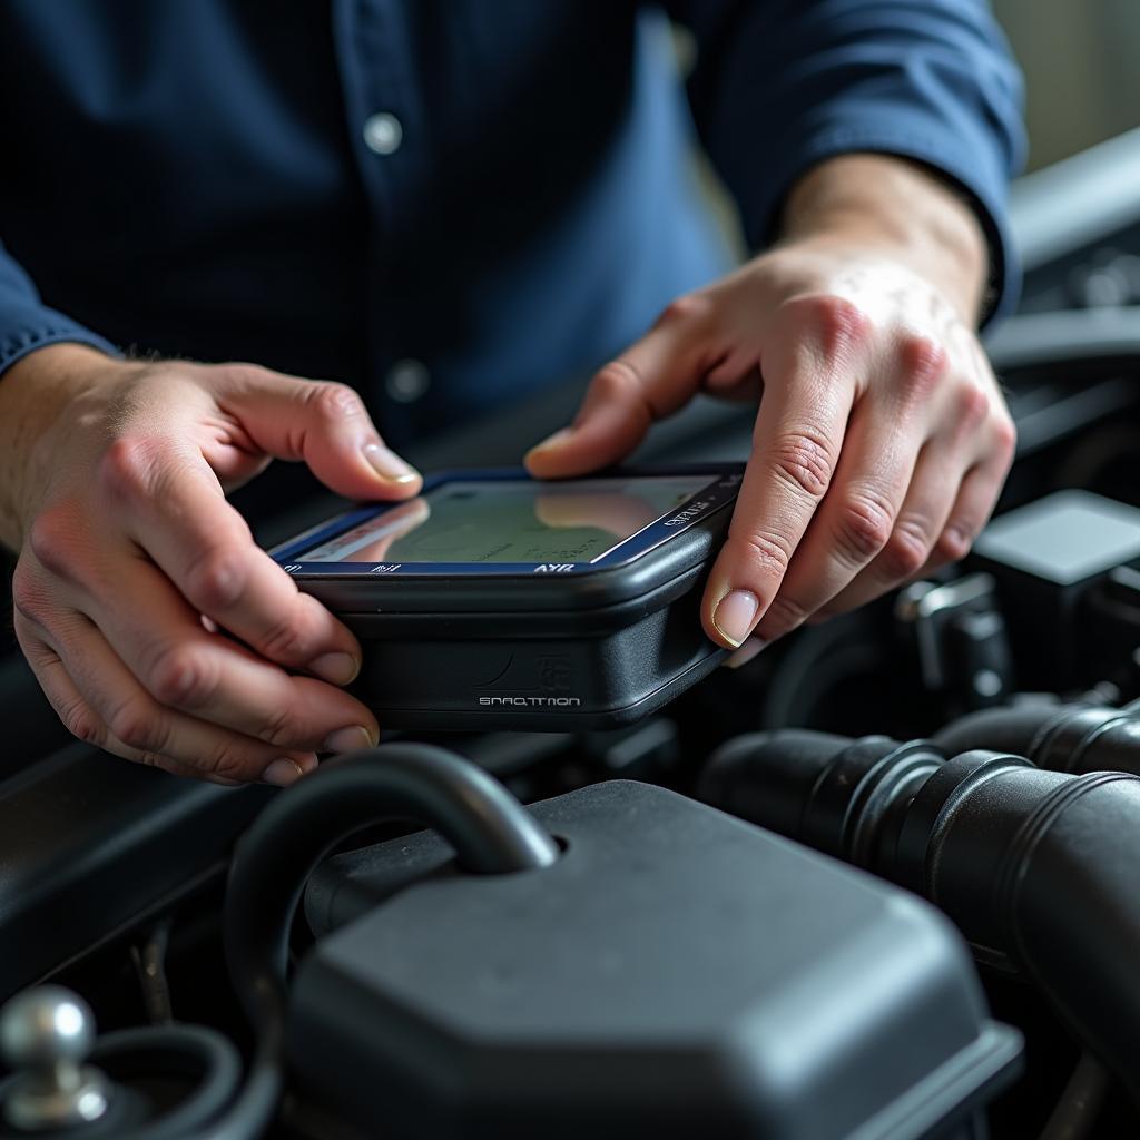
[[[92,591],[84,609],[160,705],[284,750],[340,752],[376,743],[375,717],[348,693],[291,676],[209,633],[152,563],[133,559],[115,569],[117,589]],[[116,597],[129,604],[114,604]],[[66,659],[66,646],[58,649]]]

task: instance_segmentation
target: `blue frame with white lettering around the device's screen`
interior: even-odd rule
[[[648,527],[618,543],[604,555],[593,562],[545,563],[545,562],[306,562],[306,551],[311,551],[337,535],[351,530],[368,519],[377,518],[388,511],[408,502],[369,503],[337,515],[318,527],[291,538],[283,546],[269,553],[291,575],[317,578],[373,578],[376,576],[399,577],[495,577],[520,576],[534,573],[584,575],[598,570],[608,570],[616,565],[630,562],[659,546],[667,539],[683,534],[702,518],[724,506],[736,497],[740,481],[743,478],[743,464],[687,464],[670,467],[637,467],[600,471],[589,475],[591,479],[630,479],[661,478],[669,475],[708,474],[709,483],[690,496],[667,518],[659,519]],[[473,470],[443,471],[429,475],[424,480],[423,492],[449,482],[503,482],[531,480],[522,467],[479,467]]]

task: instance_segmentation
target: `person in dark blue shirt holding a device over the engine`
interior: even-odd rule
[[[359,644],[227,503],[270,458],[397,499],[399,445],[576,372],[536,475],[758,401],[702,603],[749,652],[993,508],[976,329],[1013,300],[1023,144],[984,0],[9,0],[0,84],[15,632],[128,759],[286,784],[377,739]]]

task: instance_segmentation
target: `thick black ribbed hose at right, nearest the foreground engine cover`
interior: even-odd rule
[[[1032,978],[1140,1099],[1140,777],[759,733],[714,756],[701,792],[925,895]]]

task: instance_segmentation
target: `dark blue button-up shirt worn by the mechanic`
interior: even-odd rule
[[[1008,304],[1019,98],[984,0],[5,0],[0,369],[253,360],[353,384],[398,443],[728,267],[694,139],[754,247],[822,158],[930,164]]]

